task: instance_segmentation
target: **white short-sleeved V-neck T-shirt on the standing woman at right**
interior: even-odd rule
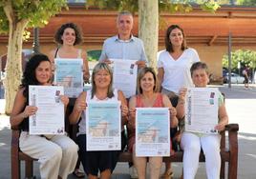
[[[181,88],[193,87],[190,68],[198,61],[198,52],[191,48],[184,50],[177,60],[168,51],[161,51],[158,59],[158,68],[164,70],[161,87],[177,94]]]

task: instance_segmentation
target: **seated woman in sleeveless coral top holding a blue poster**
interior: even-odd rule
[[[138,171],[139,179],[146,178],[147,157],[137,157],[135,154],[135,110],[136,108],[169,108],[170,109],[170,127],[178,125],[176,117],[177,111],[173,108],[169,98],[162,93],[157,92],[157,76],[153,69],[144,68],[139,71],[137,79],[137,88],[139,94],[133,96],[129,101],[129,128],[133,134],[129,139],[129,150],[133,152],[133,160]],[[150,178],[158,179],[160,177],[160,167],[162,157],[148,157],[150,166]]]

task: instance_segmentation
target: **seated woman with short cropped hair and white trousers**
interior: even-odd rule
[[[192,81],[196,88],[205,88],[209,78],[207,66],[203,62],[196,62],[191,69]],[[222,131],[228,123],[228,117],[224,107],[224,97],[219,92],[219,124],[215,129]],[[183,178],[195,178],[199,166],[201,148],[205,155],[205,167],[208,179],[220,178],[221,155],[219,134],[199,134],[197,132],[184,131],[181,135],[181,148],[183,154]]]

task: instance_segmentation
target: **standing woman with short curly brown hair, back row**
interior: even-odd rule
[[[75,45],[82,43],[81,30],[74,23],[63,24],[55,33],[54,41],[58,48],[50,52],[50,60],[54,58],[82,58],[83,78],[89,82],[90,73],[85,50],[76,49]]]

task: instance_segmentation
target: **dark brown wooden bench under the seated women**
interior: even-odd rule
[[[237,178],[237,167],[238,167],[238,124],[229,124],[225,127],[225,131],[222,134],[221,140],[221,157],[222,157],[222,168],[221,177],[224,179],[225,163],[228,163],[227,178]],[[20,164],[21,161],[25,161],[25,175],[26,178],[33,177],[33,161],[36,159],[31,158],[19,149],[19,135],[20,129],[11,129],[11,179],[19,179],[20,176]],[[226,148],[225,144],[228,144]],[[175,152],[170,157],[164,157],[163,162],[182,162],[182,151]],[[132,154],[125,151],[120,154],[119,162],[132,162]],[[204,155],[201,152],[200,162],[204,162]]]

